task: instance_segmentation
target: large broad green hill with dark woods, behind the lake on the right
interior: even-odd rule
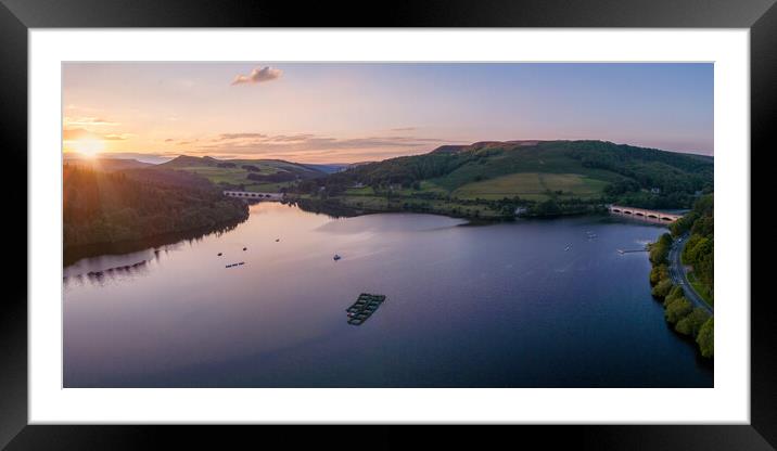
[[[413,209],[423,199],[435,212],[501,216],[518,206],[546,215],[610,202],[688,208],[712,186],[712,157],[604,141],[487,141],[354,166],[297,191],[377,210],[398,201]]]

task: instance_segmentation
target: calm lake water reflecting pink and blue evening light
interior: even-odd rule
[[[612,217],[461,223],[267,203],[220,235],[80,260],[65,269],[64,385],[713,385],[650,297],[647,254],[616,250],[665,229]],[[362,292],[387,298],[348,325]]]

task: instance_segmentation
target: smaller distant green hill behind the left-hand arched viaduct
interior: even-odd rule
[[[187,155],[156,167],[196,173],[221,189],[244,191],[279,191],[295,181],[327,175],[324,170],[313,165],[300,165],[282,159],[216,159]]]

